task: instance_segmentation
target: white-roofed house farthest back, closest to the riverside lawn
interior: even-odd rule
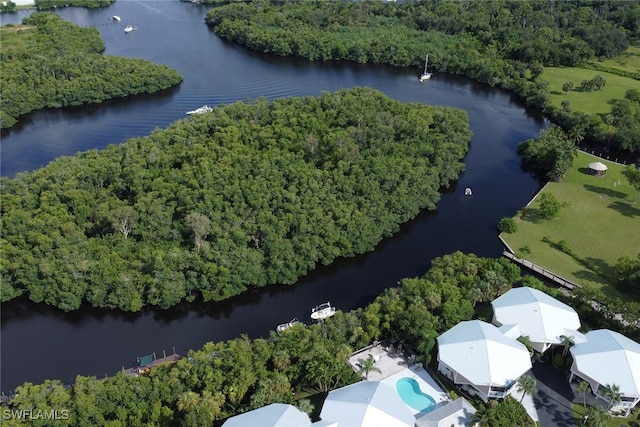
[[[567,304],[537,289],[513,288],[493,300],[493,324],[518,325],[522,336],[529,338],[532,347],[544,353],[552,345],[562,343],[562,336],[582,336],[578,313]]]

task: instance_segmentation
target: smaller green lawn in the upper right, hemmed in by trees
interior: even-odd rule
[[[600,75],[606,80],[604,88],[583,92],[580,87],[582,81],[591,80],[596,75]],[[586,68],[545,67],[541,78],[549,83],[551,105],[561,107],[562,101],[566,99],[571,103],[573,111],[588,114],[607,114],[611,111],[610,100],[624,98],[625,92],[629,89],[640,90],[640,81],[638,80]],[[565,95],[562,91],[562,85],[568,81],[573,82],[573,90]]]

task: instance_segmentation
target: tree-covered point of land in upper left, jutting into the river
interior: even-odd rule
[[[0,127],[40,108],[55,108],[140,93],[182,81],[165,65],[103,55],[95,28],[82,28],[51,12],[33,13],[22,25],[1,29]]]

